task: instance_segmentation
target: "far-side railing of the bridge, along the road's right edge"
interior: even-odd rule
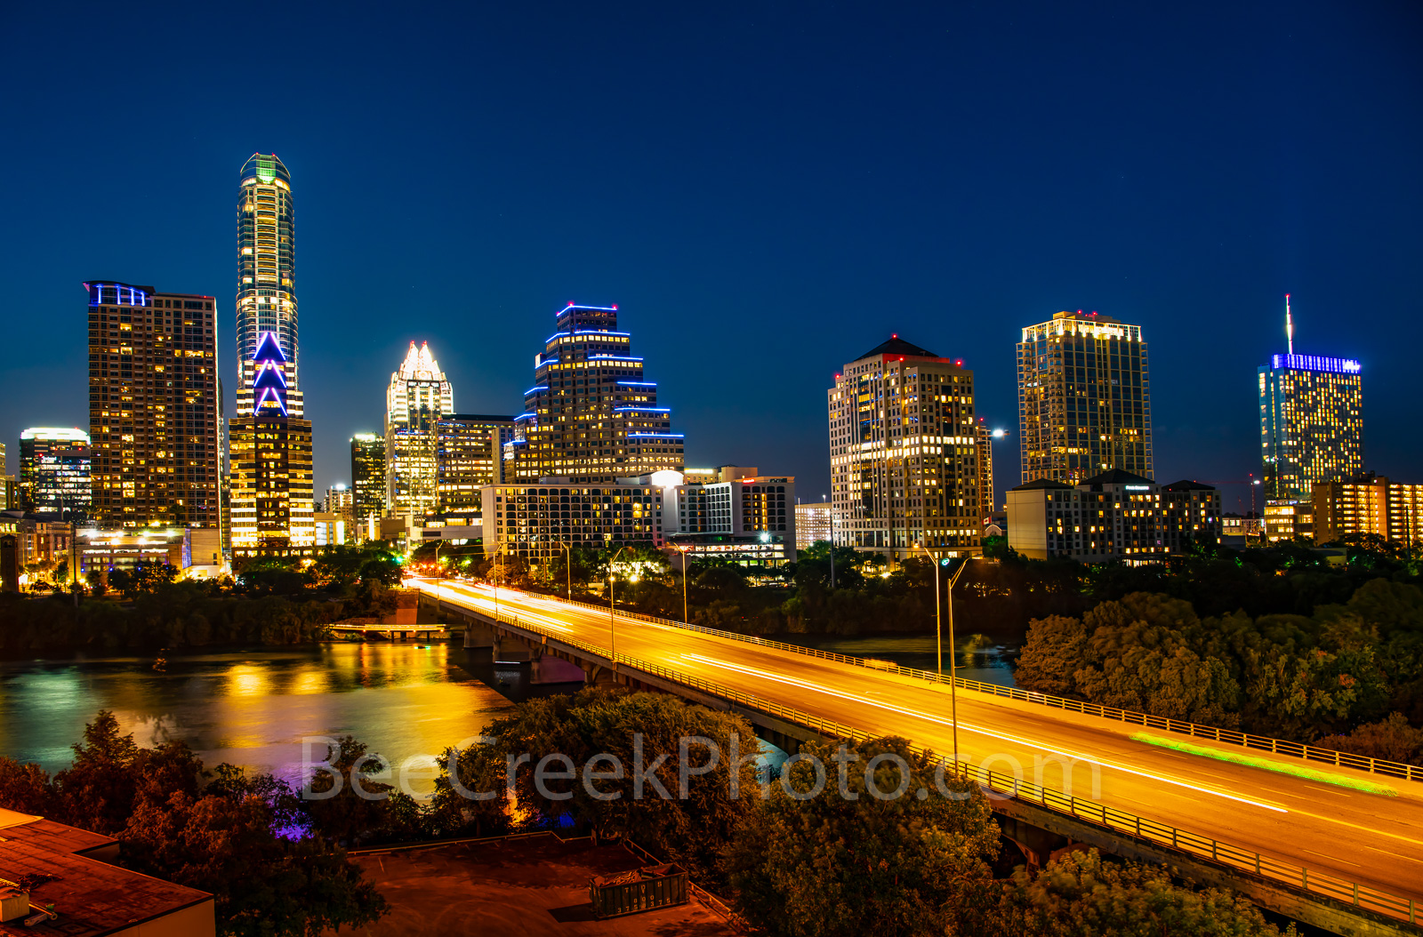
[[[568,599],[558,599],[558,601],[582,606],[585,609],[592,609],[598,611],[608,610],[606,606],[595,606],[586,601],[578,601],[578,600],[569,601]],[[901,677],[911,677],[914,680],[924,680],[941,685],[949,682],[949,677],[938,674],[931,670],[901,667],[898,664],[891,664],[888,661],[875,661],[865,657],[854,657],[851,654],[837,654],[834,651],[821,651],[814,647],[801,647],[800,644],[773,641],[770,638],[756,637],[754,634],[737,634],[736,631],[709,628],[702,624],[689,624],[686,621],[675,621],[672,619],[657,619],[655,616],[642,614],[640,611],[619,610],[618,614],[629,619],[640,619],[643,621],[650,621],[653,624],[666,624],[670,627],[686,628],[689,631],[700,631],[703,634],[710,634],[713,637],[727,638],[731,641],[757,644],[760,647],[768,647],[777,651],[803,654],[805,657],[817,657],[820,660],[834,661],[837,664],[848,664],[851,667],[862,667],[865,670],[878,670],[881,673],[898,674]],[[1355,768],[1358,771],[1368,771],[1376,775],[1403,778],[1405,781],[1423,781],[1423,768],[1399,761],[1389,761],[1386,758],[1352,755],[1349,752],[1340,752],[1333,748],[1321,748],[1319,745],[1308,745],[1305,742],[1291,742],[1282,738],[1271,738],[1269,735],[1254,735],[1251,732],[1239,732],[1237,729],[1222,729],[1214,725],[1201,725],[1200,722],[1190,722],[1187,719],[1173,719],[1170,717],[1151,715],[1150,712],[1137,712],[1134,710],[1118,710],[1117,707],[1104,707],[1096,702],[1083,702],[1081,700],[1069,700],[1067,697],[1054,697],[1046,692],[1032,692],[1029,690],[1020,690],[1017,687],[1003,687],[999,684],[983,682],[980,680],[968,680],[965,677],[956,678],[955,685],[959,687],[961,690],[972,690],[975,692],[986,692],[993,697],[1019,700],[1022,702],[1033,702],[1053,710],[1064,710],[1067,712],[1081,712],[1084,715],[1096,715],[1104,719],[1116,719],[1117,722],[1140,725],[1151,729],[1161,729],[1164,732],[1178,732],[1181,735],[1192,735],[1195,738],[1211,739],[1212,742],[1239,745],[1241,748],[1254,748],[1257,751],[1271,752],[1274,755],[1289,755],[1294,758],[1322,762],[1339,768]]]

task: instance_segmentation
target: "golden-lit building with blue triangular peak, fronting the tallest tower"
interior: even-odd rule
[[[285,365],[265,333],[246,380],[252,412],[229,422],[233,559],[316,553],[312,422],[286,408]]]

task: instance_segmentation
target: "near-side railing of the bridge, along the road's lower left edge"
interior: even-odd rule
[[[498,620],[504,624],[545,636],[561,644],[591,651],[605,660],[610,660],[615,664],[626,664],[628,667],[645,674],[662,677],[721,700],[795,722],[831,738],[864,741],[877,738],[878,735],[851,725],[835,722],[834,719],[825,719],[801,710],[794,710],[770,700],[763,700],[734,687],[703,680],[702,677],[677,671],[670,667],[662,667],[660,664],[653,664],[650,661],[642,661],[628,654],[610,655],[603,647],[579,641],[578,638],[571,638],[565,634],[554,631],[552,628],[545,628],[531,621],[521,621],[518,620],[518,616],[505,614],[502,609],[499,610]],[[911,749],[915,754],[928,758],[942,758],[932,749],[921,745],[911,745]],[[1037,803],[1046,809],[1074,816],[1080,820],[1101,826],[1116,833],[1130,835],[1143,842],[1157,843],[1160,846],[1170,846],[1171,849],[1190,853],[1201,860],[1208,860],[1218,866],[1254,874],[1259,879],[1279,883],[1291,889],[1299,889],[1306,894],[1342,901],[1345,904],[1383,914],[1395,920],[1407,921],[1409,924],[1423,923],[1423,914],[1420,914],[1420,910],[1423,909],[1419,909],[1413,899],[1372,889],[1369,886],[1359,884],[1358,882],[1350,882],[1348,879],[1319,872],[1318,869],[1311,872],[1305,866],[1281,862],[1278,859],[1272,859],[1271,856],[1265,856],[1241,846],[1234,846],[1231,843],[1224,843],[1210,836],[1202,836],[1168,823],[1160,823],[1126,810],[1118,810],[1097,801],[1076,798],[1070,793],[1064,793],[1044,785],[1023,781],[1012,773],[988,771],[982,766],[973,766],[965,762],[958,764],[958,771],[965,773],[969,779],[978,782],[986,791],[996,792],[1002,796]]]

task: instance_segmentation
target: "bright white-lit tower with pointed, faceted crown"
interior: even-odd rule
[[[454,412],[454,391],[430,344],[410,343],[386,390],[386,506],[425,515],[440,506],[440,431]]]

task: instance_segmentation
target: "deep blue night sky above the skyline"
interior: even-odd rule
[[[1298,350],[1363,361],[1366,465],[1423,481],[1420,7],[1160,6],[10,7],[10,471],[24,427],[87,427],[85,277],[216,296],[231,412],[260,149],[319,489],[407,341],[457,409],[515,414],[569,300],[620,307],[689,464],[807,499],[847,360],[961,357],[1016,431],[1013,343],[1062,309],[1143,326],[1161,481],[1244,478],[1286,291]]]

